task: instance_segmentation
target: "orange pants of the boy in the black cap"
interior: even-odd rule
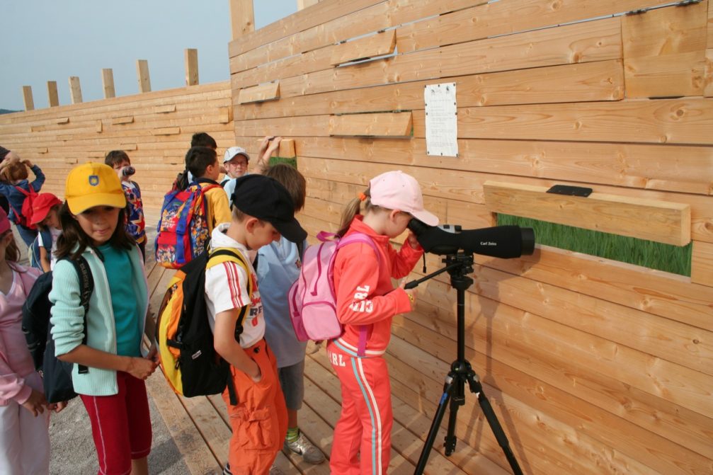
[[[225,389],[222,397],[230,416],[230,471],[233,475],[262,475],[270,471],[287,434],[287,407],[277,379],[277,360],[265,339],[245,348],[245,354],[260,367],[262,379],[254,382],[247,374],[230,367],[237,406],[230,405]]]

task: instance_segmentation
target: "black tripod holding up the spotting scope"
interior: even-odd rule
[[[500,422],[498,422],[498,417],[493,411],[488,398],[483,394],[483,385],[478,377],[478,374],[473,371],[470,362],[466,359],[465,350],[465,339],[466,339],[466,324],[465,324],[465,308],[466,308],[466,290],[468,287],[473,285],[473,279],[468,277],[468,274],[473,272],[473,255],[466,255],[462,252],[452,255],[446,255],[445,259],[446,267],[443,267],[436,272],[426,275],[419,280],[414,280],[406,284],[407,289],[412,289],[419,285],[421,282],[436,277],[443,272],[448,272],[451,275],[451,287],[456,289],[458,293],[458,359],[451,363],[451,371],[448,372],[446,376],[446,382],[443,384],[443,395],[441,400],[438,402],[438,408],[436,409],[436,414],[434,414],[434,420],[431,423],[431,429],[429,430],[429,435],[426,437],[426,444],[424,444],[424,449],[421,451],[421,456],[419,457],[419,463],[416,465],[415,475],[421,475],[424,473],[426,468],[426,463],[429,460],[429,455],[431,454],[431,449],[434,446],[434,440],[436,439],[436,434],[438,429],[441,427],[441,422],[443,421],[443,415],[446,413],[446,406],[450,402],[450,413],[448,414],[448,431],[446,433],[446,439],[443,446],[446,447],[446,456],[453,454],[456,450],[456,419],[458,417],[458,408],[466,404],[466,382],[472,393],[476,394],[478,397],[478,404],[481,405],[481,409],[488,424],[495,434],[498,444],[503,449],[503,453],[508,459],[511,468],[513,469],[513,474],[522,475],[523,471],[520,469],[517,459],[515,459],[515,454],[510,448],[510,443],[508,442],[508,437],[503,431],[503,427]]]

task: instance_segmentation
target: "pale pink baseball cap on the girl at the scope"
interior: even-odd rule
[[[438,217],[424,210],[424,197],[416,178],[401,170],[381,173],[369,181],[371,203],[390,210],[410,213],[429,226],[438,225]]]

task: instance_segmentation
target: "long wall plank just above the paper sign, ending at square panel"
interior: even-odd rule
[[[619,21],[591,21],[317,71],[280,81],[280,91],[282,98],[287,98],[386,83],[620,59]]]

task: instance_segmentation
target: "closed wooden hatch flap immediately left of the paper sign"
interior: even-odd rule
[[[329,118],[331,136],[411,136],[410,112],[365,113]]]

